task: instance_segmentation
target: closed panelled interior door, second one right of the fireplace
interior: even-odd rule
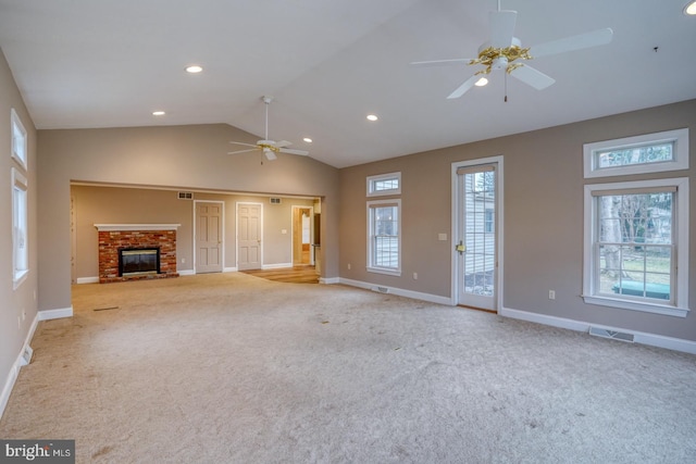
[[[260,203],[237,204],[237,268],[239,271],[261,268],[261,224]]]

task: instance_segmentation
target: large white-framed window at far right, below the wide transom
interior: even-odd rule
[[[688,179],[585,186],[585,302],[686,316]]]

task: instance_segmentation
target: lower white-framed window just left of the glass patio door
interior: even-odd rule
[[[368,271],[401,275],[401,200],[368,202]]]

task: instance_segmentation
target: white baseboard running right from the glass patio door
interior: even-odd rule
[[[682,351],[685,353],[696,354],[696,342],[691,340],[684,340],[681,338],[664,337],[662,335],[646,334],[643,331],[635,331],[622,327],[609,327],[598,324],[591,324],[582,321],[567,319],[563,317],[549,316],[546,314],[530,313],[526,311],[512,310],[504,308],[498,311],[498,314],[505,317],[512,317],[515,319],[529,321],[532,323],[544,324],[552,327],[566,328],[576,331],[589,331],[589,327],[604,328],[607,330],[622,331],[626,334],[633,334],[633,341],[635,343],[649,344],[651,347],[666,348],[673,351]]]

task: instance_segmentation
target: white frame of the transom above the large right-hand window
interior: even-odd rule
[[[608,150],[625,150],[634,147],[673,143],[673,159],[659,163],[641,163],[624,166],[599,167],[597,155]],[[583,146],[585,178],[648,174],[688,170],[688,129],[667,130],[614,140],[604,140]]]

